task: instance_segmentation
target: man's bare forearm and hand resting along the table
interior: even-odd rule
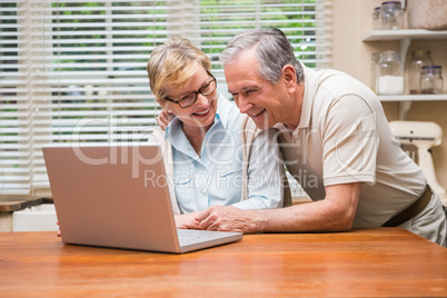
[[[326,198],[288,208],[241,210],[212,206],[196,217],[200,229],[252,232],[306,232],[350,230],[360,183],[326,187]]]

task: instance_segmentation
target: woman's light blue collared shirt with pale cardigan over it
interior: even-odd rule
[[[241,209],[282,206],[278,147],[260,133],[249,161],[248,199],[240,201],[242,190],[242,139],[239,109],[219,95],[215,123],[207,131],[197,155],[179,119],[166,130],[172,146],[173,183],[182,213],[203,210],[212,205],[232,205]]]

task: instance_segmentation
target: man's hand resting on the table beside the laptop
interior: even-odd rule
[[[241,231],[251,234],[258,231],[257,210],[242,210],[232,206],[211,206],[196,217],[202,230]]]

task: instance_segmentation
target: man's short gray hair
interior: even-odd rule
[[[220,53],[220,61],[230,64],[244,50],[254,48],[258,58],[259,76],[276,83],[282,74],[282,67],[290,64],[297,72],[297,82],[305,81],[301,64],[295,58],[294,48],[286,34],[276,28],[250,29],[234,37]]]

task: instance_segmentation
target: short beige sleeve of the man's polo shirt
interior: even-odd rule
[[[376,113],[359,96],[335,100],[321,125],[325,185],[375,182]]]

